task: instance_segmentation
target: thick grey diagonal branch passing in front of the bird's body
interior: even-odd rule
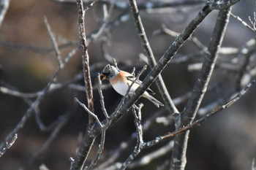
[[[235,4],[237,1],[239,0],[233,0],[233,3],[230,3],[229,7]],[[116,111],[110,115],[110,118],[108,120],[105,119],[102,121],[103,127],[108,129],[110,126],[115,124],[124,114],[129,111],[129,109],[132,107],[132,104],[138,101],[138,98],[140,98],[140,96],[151,85],[151,83],[156,80],[157,76],[162,72],[162,70],[165,69],[165,66],[167,66],[167,63],[169,63],[170,60],[173,58],[173,55],[177,53],[180,47],[184,45],[184,42],[187,41],[189,36],[191,36],[192,33],[195,31],[197,26],[199,26],[200,23],[206,18],[206,16],[214,9],[215,6],[213,6],[213,4],[211,3],[212,2],[206,3],[203,9],[200,10],[199,14],[189,23],[187,28],[185,28],[185,30],[176,37],[175,41],[172,43],[172,45],[170,45],[170,47],[168,47],[164,55],[162,55],[162,58],[160,58],[160,60],[157,62],[157,65],[154,66],[153,69],[151,69],[151,72],[143,80],[140,87],[137,88],[135,93],[129,98],[126,98],[124,101],[122,101],[123,103],[121,104],[121,107],[118,107],[118,109],[116,109]],[[86,130],[85,138],[83,139],[83,144],[81,144],[75,161],[72,163],[72,170],[82,169],[89,154],[89,150],[91,149],[91,145],[93,144],[94,139],[100,133],[101,127],[97,123],[89,125]]]

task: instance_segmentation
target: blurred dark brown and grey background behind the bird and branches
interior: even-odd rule
[[[169,4],[166,7],[160,5],[161,8],[157,9],[146,9],[147,2]],[[138,1],[140,15],[156,60],[161,58],[175,39],[175,36],[167,35],[163,28],[178,33],[183,31],[205,4],[204,1],[180,1],[180,4],[175,2]],[[87,36],[97,32],[102,26],[104,5],[107,9],[110,8],[109,1],[97,1],[86,12]],[[250,24],[248,17],[254,18],[255,1],[238,2],[232,12],[233,15],[239,16]],[[0,169],[3,170],[39,169],[42,163],[48,169],[69,169],[69,158],[75,157],[75,151],[88,123],[87,113],[74,102],[74,98],[78,98],[81,102],[87,103],[83,89],[83,76],[81,76],[81,53],[80,50],[76,50],[79,45],[76,3],[72,0],[68,2],[12,0],[0,28],[0,87],[24,94],[34,94],[34,96],[18,97],[4,93],[3,90],[0,91],[0,142],[4,142],[6,136],[20,122],[29,109],[31,101],[36,99],[35,93],[45,88],[58,67],[56,53],[53,50],[44,17],[47,18],[51,31],[57,39],[61,58],[67,58],[72,50],[75,53],[72,54],[64,69],[61,69],[56,82],[63,87],[51,90],[42,98],[37,110],[18,131],[15,144],[0,158]],[[193,34],[206,47],[211,39],[216,17],[217,11],[211,12]],[[242,78],[239,74],[246,60],[246,55],[242,50],[246,49],[246,43],[254,38],[253,31],[246,28],[236,18],[230,17],[222,43],[222,47],[229,48],[225,48],[219,55],[198,117],[210,112],[210,109],[214,107],[210,104],[216,104],[215,101],[219,101],[218,105],[223,104],[227,96],[255,78],[255,42],[254,45],[248,47],[252,53]],[[104,115],[99,102],[97,81],[95,81],[97,73],[101,72],[107,63],[112,63],[113,58],[118,62],[120,69],[132,72],[135,67],[138,72],[146,65],[142,53],[144,53],[143,47],[140,44],[135,24],[129,15],[129,5],[127,1],[116,1],[105,32],[97,39],[90,39],[89,42],[94,109],[100,120],[104,119]],[[181,60],[182,58],[184,61]],[[175,101],[180,112],[184,109],[187,98],[182,102],[178,102],[178,99],[192,90],[203,58],[202,49],[192,41],[188,41],[162,72],[170,96],[177,99]],[[140,79],[143,80],[148,72],[150,72],[149,67]],[[108,82],[103,82],[103,87],[105,106],[110,114],[115,110],[121,96],[110,88]],[[151,88],[157,93],[156,98],[162,101],[156,86],[153,84]],[[211,117],[200,127],[192,129],[187,151],[187,170],[251,169],[252,160],[256,156],[255,94],[256,88],[254,87],[232,107]],[[173,131],[172,117],[165,108],[158,109],[143,98],[138,102],[144,104],[143,122],[153,117],[151,127],[144,134],[144,141]],[[157,116],[153,116],[154,114],[165,117],[165,121],[159,117],[157,119]],[[55,122],[65,115],[68,115],[67,121],[58,136],[50,142],[45,152],[37,155],[58,124]],[[48,126],[48,128],[42,131],[40,125]],[[108,159],[113,150],[122,142],[131,139],[134,131],[134,118],[129,112],[107,131],[105,157],[103,156],[102,161]],[[134,144],[135,140],[121,152],[116,162],[124,162],[132,152]],[[165,144],[167,143],[144,150],[139,158],[149,152],[159,150]],[[97,144],[94,145],[89,160],[94,158],[93,153],[97,150]],[[37,155],[37,158],[32,160],[34,155]],[[129,169],[157,169],[160,164],[166,163],[165,160],[170,158],[170,155],[171,151],[166,152],[151,161],[149,165]],[[167,167],[164,166],[163,169],[168,169]]]

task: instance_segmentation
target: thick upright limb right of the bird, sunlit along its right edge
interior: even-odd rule
[[[201,104],[204,94],[208,86],[211,74],[214,70],[214,65],[217,60],[217,54],[219,46],[222,44],[222,39],[225,34],[227,22],[229,20],[230,9],[221,9],[217,17],[217,22],[214,27],[214,32],[211,36],[211,42],[208,46],[208,53],[206,59],[203,62],[203,66],[200,72],[197,82],[193,89],[192,96],[187,102],[187,106],[181,115],[178,115],[176,119],[176,129],[189,125],[195,119],[197,110]],[[174,147],[172,158],[170,162],[170,170],[184,169],[186,166],[186,152],[188,142],[189,131],[184,134],[178,135],[174,138]]]

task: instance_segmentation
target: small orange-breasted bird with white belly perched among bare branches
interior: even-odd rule
[[[102,74],[100,74],[101,80],[109,80],[112,87],[116,90],[117,93],[121,94],[122,96],[126,95],[127,90],[130,85],[132,85],[132,82],[135,81],[135,77],[130,74],[129,72],[124,72],[116,68],[115,66],[110,66],[108,64],[104,67],[102,70]],[[132,88],[130,88],[129,93],[134,93],[135,90],[139,87],[141,81],[136,80]],[[148,88],[142,96],[144,98],[148,98],[156,107],[164,106],[160,101],[158,101],[156,98],[154,98],[154,91],[152,91],[150,88]]]

